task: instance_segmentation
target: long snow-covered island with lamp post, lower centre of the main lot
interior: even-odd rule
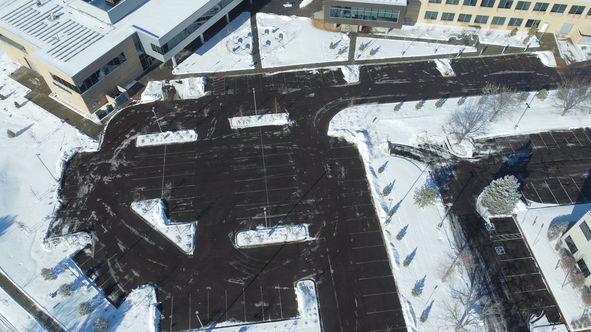
[[[256,227],[256,229],[243,230],[236,234],[236,246],[238,248],[277,245],[279,243],[302,242],[310,240],[308,225],[279,227]]]

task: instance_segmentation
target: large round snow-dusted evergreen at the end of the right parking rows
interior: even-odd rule
[[[482,204],[492,214],[510,214],[519,200],[519,183],[513,175],[492,180],[482,191]]]

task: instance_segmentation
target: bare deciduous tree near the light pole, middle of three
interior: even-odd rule
[[[482,89],[481,105],[491,112],[491,119],[494,121],[499,115],[506,115],[515,112],[517,96],[515,88],[504,84],[486,83]]]

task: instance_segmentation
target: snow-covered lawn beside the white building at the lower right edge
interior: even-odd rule
[[[548,233],[548,227],[552,224],[576,222],[589,210],[591,210],[591,203],[569,206],[533,203],[530,209],[523,208],[517,213],[521,233],[530,245],[532,255],[544,276],[548,288],[550,288],[554,301],[556,301],[560,312],[564,315],[564,321],[566,321],[570,331],[587,330],[589,326],[577,328],[574,325],[579,321],[588,321],[591,315],[589,309],[585,308],[580,300],[580,289],[574,289],[572,284],[563,286],[567,280],[567,274],[558,264],[560,256],[554,249],[560,239],[548,240],[546,234]],[[550,330],[534,328],[532,332]]]

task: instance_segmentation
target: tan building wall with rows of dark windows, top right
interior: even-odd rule
[[[574,43],[577,43],[580,40],[577,28],[581,31],[582,34],[591,35],[591,16],[586,15],[587,12],[589,12],[589,9],[591,9],[591,2],[589,1],[561,0],[543,2],[548,4],[548,8],[545,12],[538,12],[533,10],[537,1],[531,1],[530,7],[527,10],[515,9],[515,6],[517,6],[518,2],[517,0],[513,1],[511,9],[498,8],[499,2],[501,0],[495,0],[495,4],[492,8],[481,7],[480,4],[482,4],[482,1],[483,0],[477,0],[476,6],[467,6],[463,5],[464,0],[459,0],[459,4],[457,5],[446,4],[446,0],[441,0],[441,4],[430,3],[427,0],[410,0],[408,3],[406,17],[408,18],[407,21],[410,22],[449,24],[459,25],[463,27],[495,28],[506,30],[512,30],[514,28],[508,26],[509,19],[522,18],[523,22],[521,26],[518,27],[518,29],[521,31],[527,31],[528,28],[525,27],[525,24],[528,19],[539,19],[540,28],[543,26],[543,24],[549,24],[546,32],[551,32],[556,35],[559,35],[558,32],[561,30],[564,23],[574,24],[573,28],[571,28],[568,34],[560,35],[563,37],[573,38]],[[564,13],[560,14],[550,12],[554,4],[567,5]],[[583,13],[581,15],[568,14],[572,5],[584,6],[585,8],[583,10]],[[437,19],[425,19],[425,13],[427,11],[438,12]],[[441,14],[443,14],[443,12],[454,13],[455,15],[453,21],[441,21]],[[457,19],[460,14],[472,15],[472,17],[470,18],[470,22],[458,22]],[[486,24],[476,24],[474,22],[476,15],[488,16],[489,18]],[[491,21],[492,18],[495,16],[505,17],[506,19],[504,24],[492,25]]]

